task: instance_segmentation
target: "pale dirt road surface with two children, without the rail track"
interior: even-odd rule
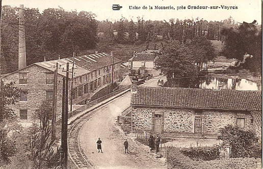
[[[125,135],[116,124],[117,116],[129,106],[131,94],[125,94],[90,112],[90,119],[80,132],[80,146],[95,168],[167,168],[163,158],[156,158],[147,146]],[[103,153],[97,152],[96,141],[102,140]],[[128,154],[123,142],[128,139]]]

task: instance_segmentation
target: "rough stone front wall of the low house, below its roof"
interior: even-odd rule
[[[254,129],[253,117],[249,111],[167,108],[150,106],[133,106],[131,124],[133,131],[139,128],[154,131],[154,115],[162,115],[162,133],[195,133],[195,119],[201,119],[201,134],[217,135],[220,128],[237,125],[237,119],[244,121],[245,129]]]

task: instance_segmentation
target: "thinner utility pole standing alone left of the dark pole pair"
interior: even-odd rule
[[[57,82],[58,82],[58,63],[54,71],[54,83],[53,83],[53,106],[52,106],[52,123],[51,123],[51,139],[56,138],[56,108],[57,108]]]

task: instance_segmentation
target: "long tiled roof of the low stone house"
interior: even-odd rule
[[[132,105],[261,110],[261,92],[139,87]]]

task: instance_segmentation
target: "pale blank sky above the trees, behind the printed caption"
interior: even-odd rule
[[[122,8],[118,11],[112,10],[113,4],[119,4]],[[26,8],[38,8],[43,11],[47,8],[62,7],[67,11],[76,10],[90,11],[97,15],[97,20],[111,21],[119,20],[122,16],[128,20],[137,20],[137,17],[145,20],[166,20],[170,18],[196,19],[199,17],[207,21],[221,21],[231,16],[236,22],[252,22],[257,20],[261,24],[262,8],[261,0],[3,0],[3,5],[19,7],[24,5]],[[140,9],[129,9],[129,7],[140,7]],[[147,9],[142,9],[143,6]],[[151,6],[153,9],[149,9]],[[174,9],[154,9],[155,6],[168,6]],[[194,7],[207,6],[207,9],[194,9]],[[211,6],[218,6],[217,9],[210,9]],[[185,7],[186,9],[178,9]],[[192,8],[193,9],[189,9]],[[219,8],[220,7],[220,8]],[[234,9],[222,9],[234,7]],[[235,9],[238,7],[238,9]]]

